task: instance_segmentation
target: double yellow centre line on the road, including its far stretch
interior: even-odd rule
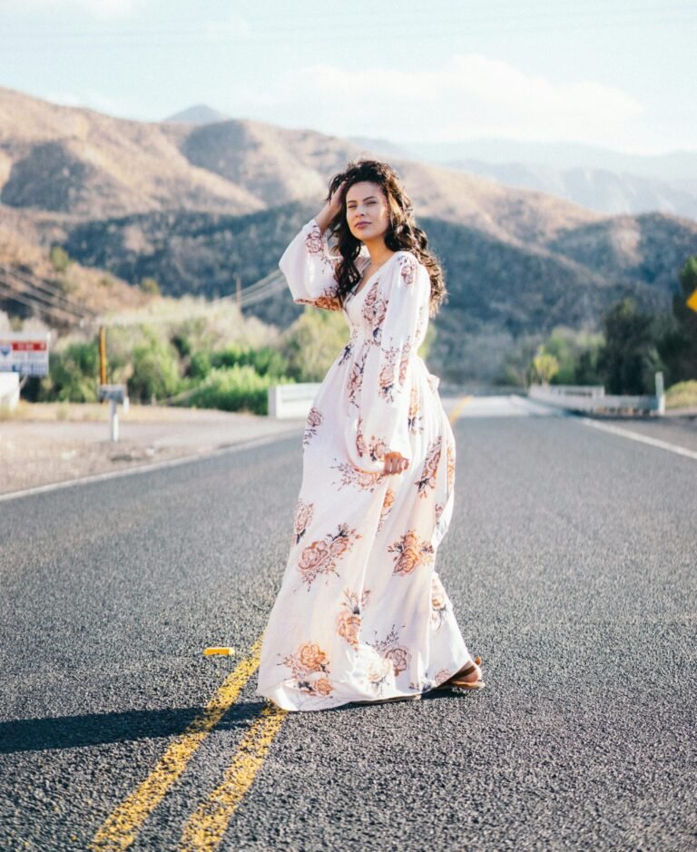
[[[463,397],[450,412],[455,421],[473,397]],[[157,762],[150,775],[115,808],[94,835],[92,852],[116,852],[130,847],[142,824],[157,808],[174,782],[182,776],[203,740],[239,698],[241,690],[259,668],[261,637],[244,660],[222,682],[201,713],[189,724]],[[287,716],[286,710],[267,705],[241,739],[221,784],[201,802],[184,826],[180,852],[212,852],[220,844],[232,814],[263,766],[271,743]]]

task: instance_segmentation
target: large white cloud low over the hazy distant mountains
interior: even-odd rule
[[[232,104],[237,114],[261,118],[262,110],[267,121],[405,142],[496,136],[608,144],[629,139],[643,113],[621,89],[557,83],[480,54],[427,71],[307,66],[264,89],[248,84]]]

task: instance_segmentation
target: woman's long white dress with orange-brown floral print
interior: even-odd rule
[[[368,265],[365,247],[358,269]],[[315,220],[280,259],[293,300],[340,310]],[[455,440],[417,355],[430,279],[398,251],[348,297],[350,328],[312,401],[290,554],[264,633],[257,694],[285,710],[432,689],[468,661],[435,571],[453,512]],[[383,457],[410,459],[384,473]]]

